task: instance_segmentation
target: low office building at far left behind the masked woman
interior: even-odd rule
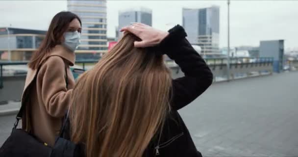
[[[44,30],[0,27],[0,60],[30,60],[45,36]]]

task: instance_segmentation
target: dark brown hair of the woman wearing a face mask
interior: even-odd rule
[[[80,18],[70,11],[59,12],[53,17],[45,39],[41,43],[39,49],[33,53],[31,60],[28,63],[29,68],[37,69],[44,56],[47,55],[53,47],[61,44],[61,37],[74,19],[77,19],[82,25]]]

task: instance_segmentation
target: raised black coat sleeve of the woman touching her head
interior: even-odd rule
[[[211,70],[186,36],[184,28],[177,25],[169,30],[169,35],[159,45],[184,73],[184,77],[173,79],[171,105],[175,110],[194,101],[213,81]]]

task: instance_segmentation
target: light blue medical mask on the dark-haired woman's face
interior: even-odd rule
[[[66,48],[68,48],[72,52],[75,52],[78,45],[80,44],[80,38],[81,38],[81,34],[78,31],[65,32],[64,33],[65,40],[62,43],[62,45],[64,45]]]

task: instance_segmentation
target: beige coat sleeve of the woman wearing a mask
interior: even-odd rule
[[[71,102],[73,89],[67,90],[65,63],[59,56],[51,56],[40,69],[41,98],[52,117],[63,117]]]

